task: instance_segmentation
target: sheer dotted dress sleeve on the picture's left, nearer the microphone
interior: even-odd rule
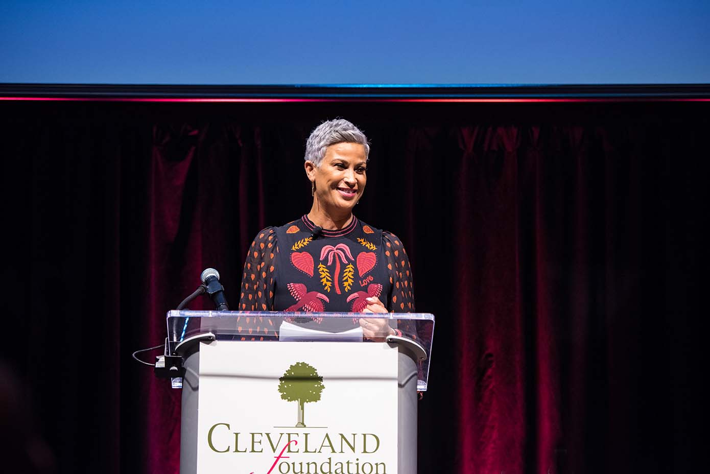
[[[273,311],[276,248],[273,227],[263,229],[251,243],[241,275],[240,311]]]

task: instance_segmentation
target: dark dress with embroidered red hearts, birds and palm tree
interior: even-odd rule
[[[361,312],[365,299],[376,296],[389,312],[415,311],[409,259],[395,235],[355,216],[337,231],[315,228],[302,216],[257,234],[244,264],[239,310]]]

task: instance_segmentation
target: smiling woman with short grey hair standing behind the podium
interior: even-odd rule
[[[267,227],[251,243],[241,311],[413,312],[409,259],[392,233],[353,215],[365,190],[370,145],[343,119],[321,123],[306,142],[310,212]],[[359,319],[366,338],[399,331],[387,319]]]

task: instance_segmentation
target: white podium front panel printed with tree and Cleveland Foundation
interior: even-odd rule
[[[200,343],[198,474],[398,472],[398,349]]]

